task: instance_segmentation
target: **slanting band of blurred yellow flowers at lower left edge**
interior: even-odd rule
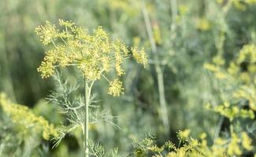
[[[12,119],[17,126],[24,127],[23,130],[35,130],[35,133],[42,133],[45,140],[50,136],[57,137],[58,131],[42,116],[34,115],[26,106],[13,104],[4,93],[0,93],[0,107]]]

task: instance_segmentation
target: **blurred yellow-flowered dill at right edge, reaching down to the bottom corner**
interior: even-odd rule
[[[236,60],[224,68],[226,60],[223,57],[213,57],[213,63],[204,64],[204,68],[212,73],[220,85],[221,103],[209,103],[206,108],[217,112],[223,119],[228,119],[230,141],[221,138],[221,126],[216,130],[214,142],[221,145],[228,144],[225,149],[228,155],[246,155],[255,153],[253,147],[255,137],[255,71],[256,71],[256,46],[253,43],[244,45],[239,51]]]

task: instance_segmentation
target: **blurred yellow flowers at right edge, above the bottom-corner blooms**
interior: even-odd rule
[[[213,107],[213,111],[227,117],[230,121],[237,117],[254,119],[256,111],[256,46],[249,44],[243,46],[239,51],[239,57],[224,68],[224,60],[221,57],[214,57],[213,64],[204,64],[204,68],[213,72],[215,77],[227,86],[232,87],[229,94],[231,97],[224,100],[224,104]],[[236,87],[236,88],[234,88]],[[230,100],[246,100],[249,102],[248,109],[243,109],[237,104],[229,103]],[[208,106],[209,107],[209,106]],[[210,108],[210,107],[209,107]]]

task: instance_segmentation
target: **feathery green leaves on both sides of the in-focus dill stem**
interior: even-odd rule
[[[66,135],[73,133],[77,140],[80,139],[79,133],[81,133],[81,130],[83,129],[85,113],[82,110],[84,106],[84,99],[77,94],[77,90],[79,89],[79,86],[83,84],[83,81],[73,82],[70,84],[67,80],[64,81],[61,79],[61,74],[59,72],[57,72],[57,75],[54,75],[54,80],[56,89],[54,89],[50,96],[47,97],[47,100],[49,100],[52,105],[58,105],[61,115],[66,119],[58,128],[58,137],[54,138],[54,147],[56,147]],[[114,116],[109,115],[107,111],[101,111],[100,108],[95,105],[95,103],[97,103],[95,97],[91,97],[90,102],[90,130],[97,122],[109,122],[113,126],[117,126],[113,122],[113,119],[115,119]]]

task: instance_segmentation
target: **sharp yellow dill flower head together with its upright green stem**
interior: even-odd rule
[[[125,74],[121,64],[129,57],[134,57],[139,64],[146,67],[147,54],[137,47],[130,51],[121,39],[112,40],[102,27],[90,34],[71,21],[59,20],[59,27],[46,21],[45,25],[35,27],[35,33],[39,35],[43,45],[50,48],[38,68],[43,79],[54,75],[58,67],[75,67],[83,75],[84,103],[69,109],[78,119],[83,119],[83,123],[77,125],[82,127],[83,148],[85,156],[89,156],[89,106],[94,83],[99,79],[106,79],[109,82],[108,93],[119,97],[124,93],[119,79]],[[115,75],[115,78],[109,80],[109,75]],[[82,111],[84,117],[80,117],[77,111]]]

